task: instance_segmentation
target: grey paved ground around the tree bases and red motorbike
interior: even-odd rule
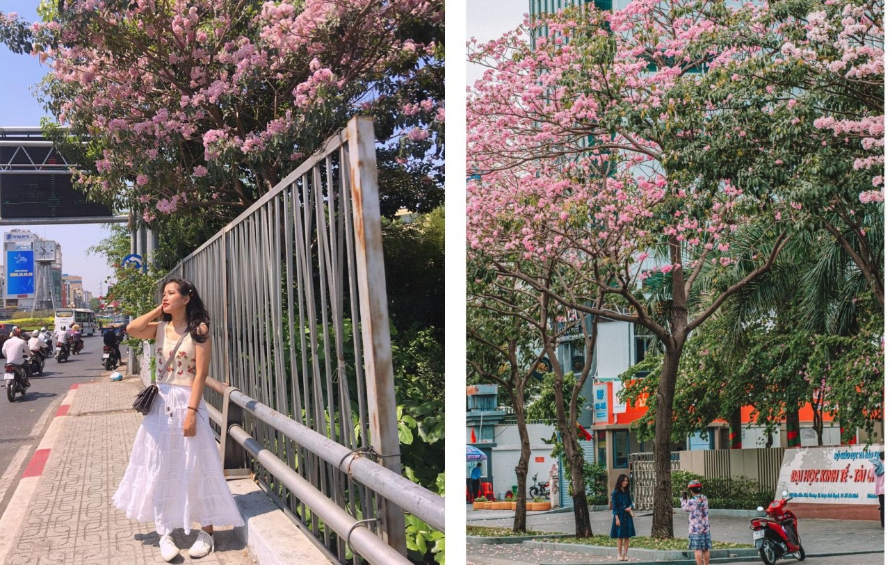
[[[478,517],[477,517],[478,514]],[[592,512],[590,521],[594,532],[608,533],[611,525],[611,511]],[[651,531],[651,513],[637,514],[635,519],[637,535],[648,536]],[[513,527],[512,511],[467,511],[468,526]],[[687,531],[685,514],[674,514],[674,535],[685,537]],[[711,516],[711,535],[724,542],[748,544],[753,547],[748,518],[735,516]],[[798,522],[801,538],[804,541],[807,558],[818,555],[837,555],[837,562],[859,562],[853,555],[845,553],[883,552],[884,530],[878,521],[853,520],[812,520]],[[527,518],[529,529],[574,533],[575,519],[572,513],[530,513]],[[634,542],[631,540],[631,549]],[[577,553],[554,552],[522,548],[521,545],[467,545],[467,561],[475,565],[514,565],[525,563],[608,563],[614,558],[598,558]],[[640,561],[640,560],[636,560]]]

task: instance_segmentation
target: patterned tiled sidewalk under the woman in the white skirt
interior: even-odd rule
[[[165,563],[154,525],[131,521],[111,504],[142,421],[130,408],[141,388],[138,378],[80,385],[6,565]],[[254,564],[231,527],[215,529],[214,552],[192,560],[188,548],[197,536],[197,529],[188,537],[174,532],[183,549],[173,563]]]

